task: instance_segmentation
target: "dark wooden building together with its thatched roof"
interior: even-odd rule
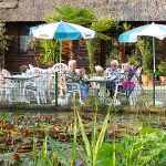
[[[96,9],[98,18],[107,17],[136,24],[152,21],[166,23],[165,0],[0,0],[0,20],[6,22],[7,33],[11,38],[6,54],[8,70],[18,71],[21,64],[34,63],[33,55],[25,52],[29,28],[44,23],[45,17],[53,10],[54,4],[61,7],[65,3]],[[165,44],[164,41],[163,45]],[[104,63],[102,58],[104,44],[101,45],[98,59]],[[79,51],[81,55],[86,55],[83,46]]]

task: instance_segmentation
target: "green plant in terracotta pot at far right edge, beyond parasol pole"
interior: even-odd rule
[[[166,62],[162,62],[158,65],[158,75],[159,75],[160,84],[165,85],[166,84]]]

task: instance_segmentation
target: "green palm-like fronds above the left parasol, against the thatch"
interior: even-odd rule
[[[48,15],[49,22],[66,21],[81,25],[90,24],[95,19],[95,12],[87,8],[75,8],[70,4],[54,7],[54,11]]]

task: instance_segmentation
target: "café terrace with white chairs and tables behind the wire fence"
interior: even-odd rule
[[[123,70],[123,69],[122,69]],[[2,105],[24,104],[33,106],[53,106],[61,107],[72,106],[76,102],[79,105],[85,105],[90,101],[97,98],[100,103],[112,106],[151,106],[153,101],[153,85],[143,85],[139,77],[142,69],[137,69],[134,82],[134,90],[127,95],[118,92],[118,85],[123,77],[123,72],[118,84],[116,84],[114,96],[110,96],[106,90],[106,83],[114,81],[114,75],[90,74],[87,75],[87,84],[90,86],[89,96],[82,98],[82,92],[77,83],[65,82],[68,65],[63,63],[54,64],[52,68],[41,69],[29,64],[23,73],[12,74],[7,70],[2,70],[0,81],[0,103]],[[68,90],[71,86],[71,90]],[[155,86],[155,105],[166,106],[165,101],[166,85],[156,82]],[[75,98],[75,100],[74,100]],[[95,101],[93,101],[95,102]]]

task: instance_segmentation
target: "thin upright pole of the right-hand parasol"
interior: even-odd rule
[[[155,106],[155,72],[156,72],[156,58],[155,58],[155,38],[153,37],[153,63],[154,63],[154,69],[153,69],[153,104]]]

